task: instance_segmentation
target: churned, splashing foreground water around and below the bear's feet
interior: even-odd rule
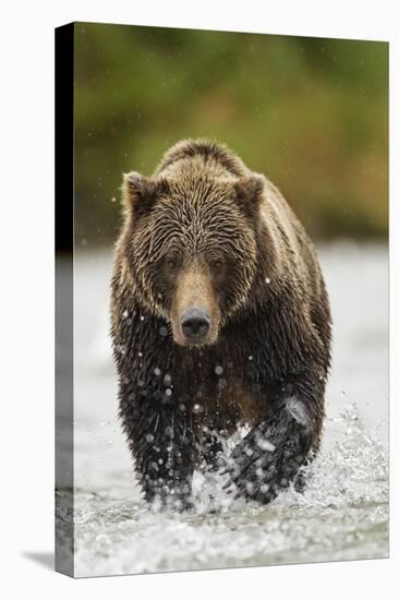
[[[183,515],[120,501],[118,490],[76,490],[75,575],[386,556],[386,447],[353,404],[327,427],[338,439],[306,468],[305,493],[290,488],[268,506],[232,501],[218,473],[196,473]]]

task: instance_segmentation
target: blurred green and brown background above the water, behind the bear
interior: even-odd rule
[[[75,25],[76,242],[109,243],[122,172],[228,144],[316,239],[388,232],[388,44]]]

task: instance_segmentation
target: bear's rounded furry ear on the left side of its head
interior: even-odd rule
[[[150,179],[132,171],[123,175],[123,202],[135,218],[149,212],[157,197],[168,191],[165,179]]]

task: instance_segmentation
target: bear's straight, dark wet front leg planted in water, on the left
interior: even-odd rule
[[[198,445],[186,405],[141,386],[121,397],[120,406],[145,500],[189,508]]]

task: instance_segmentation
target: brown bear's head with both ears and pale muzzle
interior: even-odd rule
[[[256,274],[261,175],[124,176],[124,254],[145,305],[182,346],[214,344]]]

